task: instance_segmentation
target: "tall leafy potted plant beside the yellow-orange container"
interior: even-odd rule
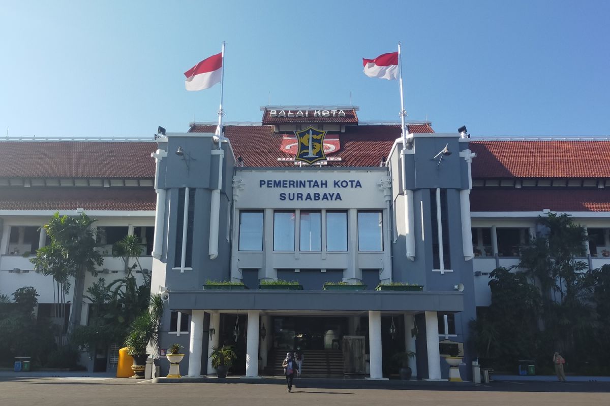
[[[132,378],[143,379],[146,368],[148,345],[157,346],[159,341],[159,322],[163,314],[163,301],[160,295],[152,295],[149,308],[135,318],[124,341],[127,354],[134,358]]]

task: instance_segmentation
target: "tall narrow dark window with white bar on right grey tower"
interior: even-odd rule
[[[430,217],[432,220],[432,268],[440,270],[451,269],[451,251],[449,246],[449,219],[447,209],[447,189],[440,189],[440,199],[437,200],[437,189],[430,189]],[[440,219],[437,206],[440,203]],[[442,241],[439,239],[439,221]],[[443,268],[440,267],[440,256],[443,257]]]

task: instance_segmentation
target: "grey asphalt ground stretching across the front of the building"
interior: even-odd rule
[[[0,379],[2,406],[160,405],[610,405],[609,382],[495,381],[490,385],[379,385],[362,381],[295,379],[292,393],[282,380],[267,383],[152,383],[104,377]]]

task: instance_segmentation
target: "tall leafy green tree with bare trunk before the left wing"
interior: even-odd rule
[[[95,221],[84,213],[76,217],[68,217],[60,216],[57,212],[49,223],[44,225],[50,239],[49,248],[40,248],[36,257],[30,260],[37,272],[53,276],[58,284],[63,285],[63,289],[69,287],[68,278],[74,278],[68,338],[81,324],[85,275],[87,272],[97,275],[95,267],[100,267],[104,263],[101,254],[94,249],[96,240],[91,225]]]

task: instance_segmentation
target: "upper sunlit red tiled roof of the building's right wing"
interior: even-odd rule
[[[473,178],[610,178],[609,141],[472,141]]]

